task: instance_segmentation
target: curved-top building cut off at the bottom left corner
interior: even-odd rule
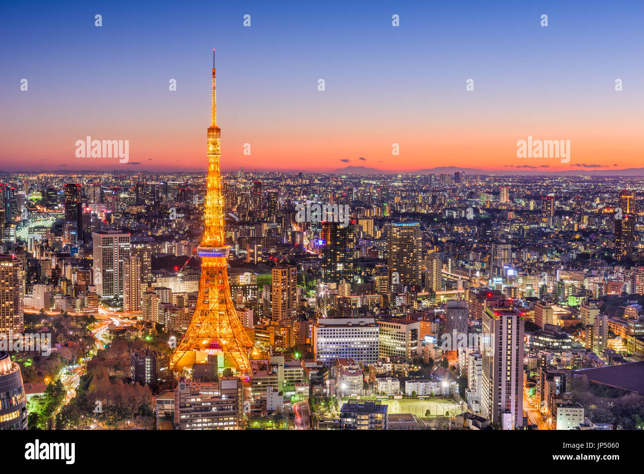
[[[27,408],[20,366],[0,351],[0,431],[26,430]]]

